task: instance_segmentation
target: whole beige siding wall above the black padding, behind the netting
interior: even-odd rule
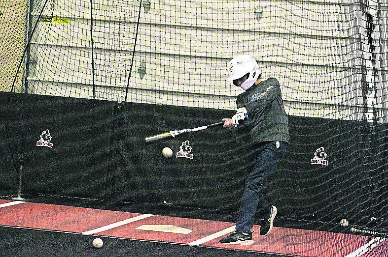
[[[148,10],[138,1],[94,1],[93,24],[89,1],[49,5],[44,15],[61,19],[38,24],[32,51],[36,69],[29,78],[34,91],[93,97],[94,82],[97,98],[123,101],[128,85],[127,101],[235,109],[241,90],[225,83],[225,68],[229,58],[244,53],[256,57],[264,78],[280,80],[289,114],[382,121],[387,6],[282,0],[149,3]]]

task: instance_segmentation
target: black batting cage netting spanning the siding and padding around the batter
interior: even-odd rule
[[[385,0],[2,0],[0,188],[16,192],[24,164],[26,194],[236,210],[242,136],[144,138],[233,115],[226,66],[248,54],[289,115],[268,201],[316,229],[385,234],[387,14]]]

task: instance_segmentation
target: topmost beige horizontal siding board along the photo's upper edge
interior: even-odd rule
[[[168,0],[150,2],[146,12],[139,3],[98,0],[93,1],[91,9],[87,0],[61,1],[47,6],[43,15],[90,20],[93,14],[94,20],[136,22],[140,10],[140,21],[144,24],[388,39],[384,4],[368,8],[349,1],[339,4],[336,1]],[[36,8],[34,14],[39,13],[40,9]],[[260,20],[258,13],[261,13]]]

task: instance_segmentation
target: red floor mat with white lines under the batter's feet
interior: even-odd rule
[[[260,227],[254,226],[254,245],[225,245],[218,241],[223,234],[233,231],[233,223],[9,200],[0,200],[0,225],[74,233],[92,230],[90,233],[96,231],[93,234],[101,236],[176,244],[194,243],[213,248],[300,257],[388,256],[387,239],[380,237],[278,227],[263,237],[259,235]],[[183,234],[137,229],[142,225],[173,225],[192,232]],[[98,228],[101,229],[93,230]]]

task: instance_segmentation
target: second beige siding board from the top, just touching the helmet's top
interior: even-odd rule
[[[66,28],[67,25],[53,26],[43,23],[38,27],[32,43],[91,48],[90,24],[76,21],[74,24]],[[94,48],[131,54],[135,43],[134,24],[99,23],[93,28]],[[304,37],[142,24],[136,50],[155,54],[217,58],[230,58],[235,53],[249,53],[262,61],[388,70],[387,44],[388,42],[350,38]],[[53,50],[56,51],[55,48]]]

